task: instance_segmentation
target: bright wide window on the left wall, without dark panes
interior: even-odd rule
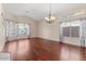
[[[5,23],[5,31],[7,39],[14,39],[20,36],[28,36],[29,35],[29,25],[23,23],[15,22],[7,22]]]

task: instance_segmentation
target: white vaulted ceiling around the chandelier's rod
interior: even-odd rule
[[[49,3],[3,3],[5,12],[13,16],[27,16],[40,21],[49,14]],[[85,3],[51,3],[51,12],[58,16],[66,16],[85,10]]]

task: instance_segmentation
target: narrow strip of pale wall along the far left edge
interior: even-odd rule
[[[0,3],[0,51],[2,51],[4,42],[5,42],[5,35],[4,35],[4,25],[3,25],[3,17],[1,15],[2,7]]]

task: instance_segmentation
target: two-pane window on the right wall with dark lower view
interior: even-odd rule
[[[79,21],[61,23],[63,37],[79,37]]]

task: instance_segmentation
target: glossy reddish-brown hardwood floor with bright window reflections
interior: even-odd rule
[[[40,38],[7,42],[3,51],[14,61],[86,61],[86,49]]]

